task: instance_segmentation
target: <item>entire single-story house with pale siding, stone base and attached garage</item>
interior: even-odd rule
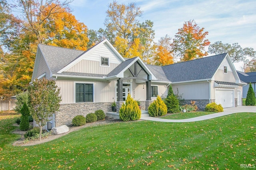
[[[76,115],[110,112],[113,101],[118,112],[128,94],[147,110],[158,95],[167,95],[170,84],[200,109],[214,101],[235,107],[241,105],[243,85],[228,54],[153,66],[139,57],[124,59],[106,39],[87,51],[38,45],[32,80],[43,77],[55,78],[62,96],[48,129],[68,125]]]

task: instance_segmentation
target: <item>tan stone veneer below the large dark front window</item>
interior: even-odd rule
[[[75,104],[61,104],[59,111],[55,113],[55,126],[71,125],[72,119],[76,115],[83,115],[94,113],[96,110],[102,109],[104,113],[112,112],[110,103],[75,103]]]

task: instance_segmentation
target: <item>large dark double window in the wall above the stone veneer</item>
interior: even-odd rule
[[[76,103],[93,102],[93,84],[76,83]]]

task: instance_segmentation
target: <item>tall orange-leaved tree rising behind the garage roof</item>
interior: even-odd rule
[[[173,39],[172,51],[181,61],[202,58],[208,55],[204,47],[210,45],[206,35],[208,32],[204,32],[204,28],[200,28],[194,20],[186,21]]]

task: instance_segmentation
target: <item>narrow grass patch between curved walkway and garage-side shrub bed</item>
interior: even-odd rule
[[[193,117],[209,115],[216,112],[208,112],[208,111],[197,111],[197,112],[186,112],[186,113],[174,113],[168,116],[160,117],[162,119],[189,119]]]

